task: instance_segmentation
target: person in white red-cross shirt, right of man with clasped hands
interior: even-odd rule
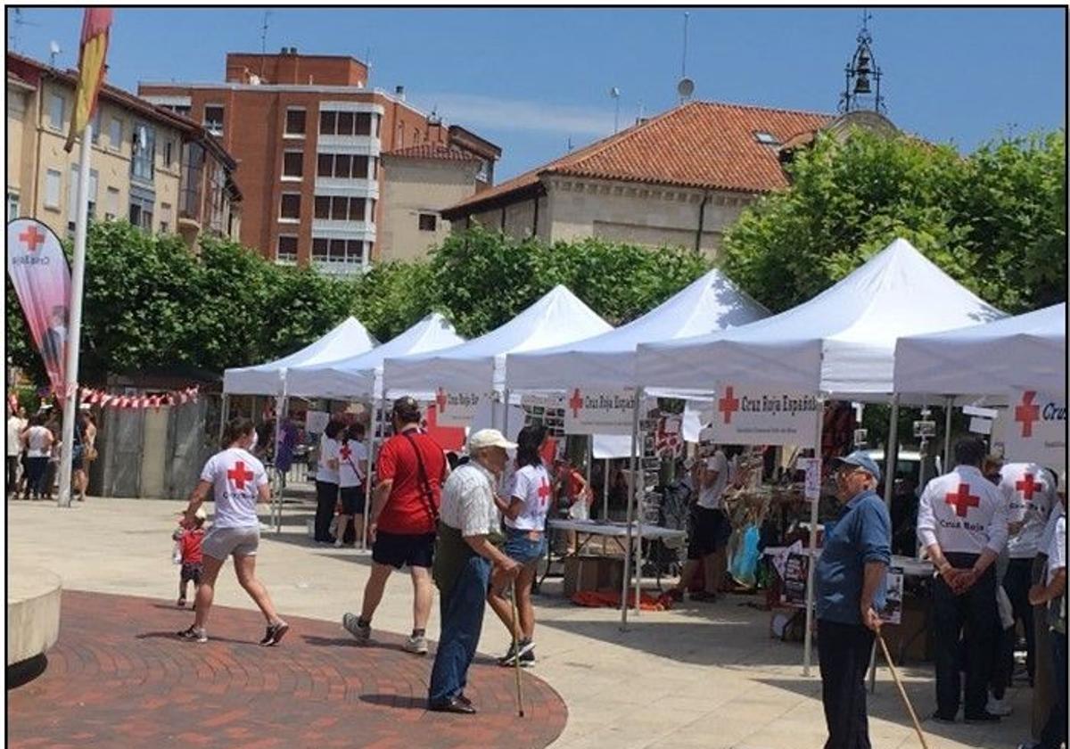
[[[1004,577],[1004,590],[1014,607],[1015,625],[1021,621],[1025,628],[1025,663],[1031,685],[1036,673],[1037,646],[1029,586],[1033,560],[1039,552],[1040,536],[1055,503],[1055,478],[1037,463],[1006,463],[999,475],[999,489],[1007,498],[1010,522],[1010,537],[1007,539],[1010,563]]]

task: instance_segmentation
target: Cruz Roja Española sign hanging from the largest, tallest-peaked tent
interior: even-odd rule
[[[798,445],[813,447],[821,402],[767,383],[717,383],[713,440],[722,445]]]

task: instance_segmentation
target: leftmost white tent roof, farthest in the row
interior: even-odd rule
[[[286,372],[290,367],[330,364],[369,351],[378,345],[360,320],[346,318],[330,333],[289,356],[236,367],[223,373],[223,392],[236,395],[281,395]]]

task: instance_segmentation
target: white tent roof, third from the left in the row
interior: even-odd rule
[[[612,330],[609,323],[564,286],[504,325],[452,349],[388,357],[383,380],[388,395],[423,396],[445,387],[487,393],[505,385],[505,356],[590,338]]]

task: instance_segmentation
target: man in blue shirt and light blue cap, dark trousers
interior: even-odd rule
[[[866,671],[881,628],[891,519],[874,491],[881,470],[866,453],[832,461],[844,503],[816,567],[817,652],[828,740],[825,749],[870,749]]]

